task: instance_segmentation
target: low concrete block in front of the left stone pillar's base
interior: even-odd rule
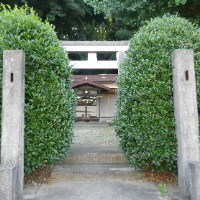
[[[0,199],[17,200],[17,167],[14,165],[0,165]]]

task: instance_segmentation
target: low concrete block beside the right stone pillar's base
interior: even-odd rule
[[[200,200],[200,161],[189,162],[190,198]]]

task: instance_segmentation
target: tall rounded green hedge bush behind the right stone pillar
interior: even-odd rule
[[[122,150],[135,167],[176,171],[172,52],[194,49],[200,88],[199,38],[200,29],[195,25],[165,15],[152,19],[130,40],[117,80],[115,129]]]

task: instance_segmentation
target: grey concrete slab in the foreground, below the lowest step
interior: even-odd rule
[[[32,190],[32,194],[30,195]],[[166,200],[154,183],[122,180],[58,181],[38,190],[25,188],[25,200]]]

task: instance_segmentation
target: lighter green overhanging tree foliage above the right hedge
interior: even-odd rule
[[[146,20],[164,13],[176,13],[199,23],[199,0],[85,0],[95,13],[104,13],[133,27],[141,26]]]

